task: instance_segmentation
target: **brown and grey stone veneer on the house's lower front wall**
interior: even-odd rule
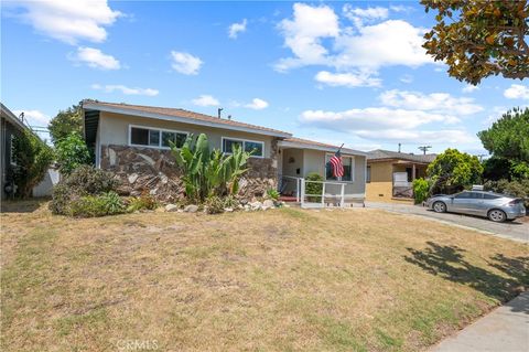
[[[239,196],[250,200],[278,185],[278,141],[272,141],[271,158],[250,158],[248,172],[240,180]],[[176,202],[184,195],[175,160],[170,150],[128,146],[102,146],[101,169],[116,173],[118,192],[140,195],[147,191],[161,202]]]

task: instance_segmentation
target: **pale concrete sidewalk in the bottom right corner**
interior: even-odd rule
[[[443,340],[432,352],[529,351],[529,291]]]

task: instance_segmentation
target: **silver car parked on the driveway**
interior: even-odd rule
[[[451,212],[485,216],[494,222],[526,216],[526,207],[521,199],[483,191],[434,195],[427,201],[427,206],[436,213]]]

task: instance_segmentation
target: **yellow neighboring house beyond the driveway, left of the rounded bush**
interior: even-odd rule
[[[366,200],[413,202],[413,180],[424,178],[436,154],[413,154],[390,150],[367,153]]]

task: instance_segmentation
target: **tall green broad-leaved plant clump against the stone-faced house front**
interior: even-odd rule
[[[213,195],[236,194],[240,177],[248,170],[245,166],[249,152],[238,147],[229,156],[218,149],[209,151],[209,142],[204,134],[196,140],[190,135],[181,149],[172,143],[171,150],[182,170],[185,194],[193,201],[203,202]]]

